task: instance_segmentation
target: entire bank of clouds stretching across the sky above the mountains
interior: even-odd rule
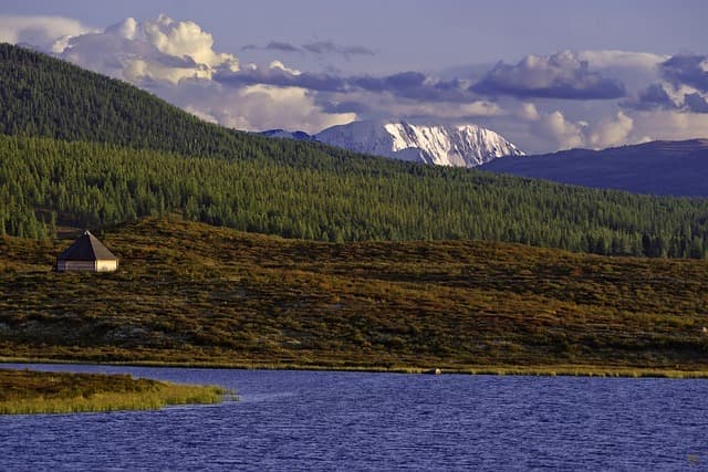
[[[460,69],[440,78],[417,71],[346,76],[300,71],[282,60],[293,53],[305,62],[305,55],[320,61],[375,54],[331,41],[250,44],[242,50],[272,56],[266,65],[241,64],[217,51],[200,25],[166,15],[129,18],[101,31],[63,18],[0,17],[0,40],[34,44],[129,81],[202,119],[248,130],[316,133],[360,118],[467,122],[498,130],[529,151],[708,136],[708,63],[700,55],[566,51],[530,55],[516,65]],[[629,94],[633,98],[625,98]]]

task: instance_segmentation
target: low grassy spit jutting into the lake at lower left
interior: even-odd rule
[[[154,410],[168,405],[218,403],[225,394],[219,387],[128,375],[0,369],[0,415]]]

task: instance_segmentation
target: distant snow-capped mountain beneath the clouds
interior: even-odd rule
[[[412,125],[405,122],[354,122],[316,135],[275,129],[270,137],[309,139],[357,153],[438,166],[475,167],[501,156],[523,156],[499,134],[477,125]]]

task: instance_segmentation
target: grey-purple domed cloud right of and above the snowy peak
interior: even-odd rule
[[[500,62],[472,90],[518,98],[607,99],[626,94],[621,82],[591,71],[587,61],[571,51],[528,55],[516,65]]]

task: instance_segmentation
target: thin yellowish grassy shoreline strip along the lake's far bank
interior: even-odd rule
[[[592,365],[549,365],[549,366],[509,366],[479,365],[465,367],[413,367],[413,366],[335,366],[335,365],[298,365],[290,363],[166,363],[154,360],[138,361],[77,361],[66,359],[12,358],[0,357],[0,368],[4,364],[48,364],[48,365],[90,365],[114,367],[154,367],[154,368],[202,368],[233,370],[302,370],[302,371],[343,371],[371,374],[416,374],[429,375],[439,370],[440,375],[492,375],[492,376],[529,376],[529,377],[624,377],[624,378],[673,378],[673,379],[708,379],[706,369],[681,369],[668,367],[638,366],[592,366]]]

